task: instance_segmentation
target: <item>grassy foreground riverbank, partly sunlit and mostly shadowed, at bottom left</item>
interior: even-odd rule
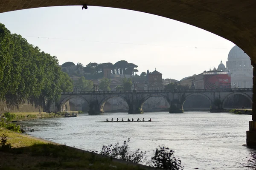
[[[96,153],[49,142],[29,135],[0,129],[0,139],[7,136],[12,148],[0,151],[1,169],[19,170],[153,170],[152,167],[134,164],[118,159],[110,159]],[[6,144],[7,144],[6,143]]]

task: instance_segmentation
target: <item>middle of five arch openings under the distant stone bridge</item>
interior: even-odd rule
[[[169,111],[170,104],[163,96],[151,96],[144,100],[141,108],[145,112],[150,111]]]

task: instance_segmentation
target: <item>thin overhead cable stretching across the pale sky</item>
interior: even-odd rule
[[[192,47],[192,46],[171,46],[171,45],[156,45],[156,44],[136,44],[136,43],[127,43],[127,42],[108,42],[108,41],[91,41],[91,40],[77,40],[77,39],[65,39],[65,38],[53,38],[53,37],[36,37],[36,36],[27,36],[23,37],[33,37],[33,38],[44,38],[52,40],[68,40],[68,41],[84,41],[84,42],[99,42],[99,43],[111,43],[111,44],[126,44],[126,45],[146,45],[146,46],[161,46],[161,47],[172,47],[172,48],[202,48],[202,49],[229,49],[229,48],[214,48],[214,47]]]

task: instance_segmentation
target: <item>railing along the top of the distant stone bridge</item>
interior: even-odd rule
[[[126,93],[177,93],[177,92],[232,92],[253,91],[252,88],[230,88],[230,89],[182,89],[182,90],[147,90],[147,91],[75,91],[62,92],[61,94],[126,94]]]

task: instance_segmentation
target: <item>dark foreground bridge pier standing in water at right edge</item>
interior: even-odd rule
[[[251,61],[253,66],[253,116],[252,121],[249,122],[249,131],[246,132],[246,145],[256,146],[256,64]]]

